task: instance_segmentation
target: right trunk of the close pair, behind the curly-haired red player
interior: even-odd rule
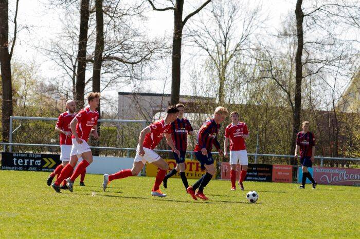
[[[95,11],[96,11],[96,45],[95,45],[95,57],[94,57],[94,66],[93,66],[93,92],[100,92],[100,73],[101,73],[101,64],[102,64],[102,53],[104,51],[104,19],[102,15],[102,1],[95,1]],[[100,104],[96,109],[99,112],[99,119],[101,118],[101,109]],[[98,134],[100,136],[100,122],[97,125]],[[97,140],[93,144],[94,146],[99,146],[100,141]],[[99,150],[94,150],[94,155],[99,156]]]

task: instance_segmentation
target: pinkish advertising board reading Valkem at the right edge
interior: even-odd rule
[[[360,186],[360,169],[313,167],[318,184]]]

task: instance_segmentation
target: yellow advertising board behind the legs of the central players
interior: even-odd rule
[[[175,160],[165,160],[169,165],[170,172],[174,167],[176,167]],[[214,162],[216,165],[216,163]],[[185,160],[185,175],[187,178],[200,178],[202,175],[205,174],[205,170],[200,169],[201,165],[199,161],[195,160]],[[146,165],[146,175],[149,177],[156,177],[157,174],[157,167],[153,164]],[[180,173],[177,172],[173,177],[180,177]]]

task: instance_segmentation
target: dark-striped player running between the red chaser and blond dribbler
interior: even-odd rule
[[[188,134],[194,134],[190,122],[183,118],[185,112],[185,106],[183,104],[177,104],[176,108],[179,110],[177,118],[174,122],[171,123],[172,130],[172,140],[177,150],[179,150],[180,155],[174,153],[174,158],[176,161],[176,167],[173,168],[164,178],[163,185],[164,188],[168,188],[167,182],[168,179],[180,171],[181,180],[185,186],[185,190],[189,187],[188,180],[185,175],[185,154],[187,148],[187,136]]]

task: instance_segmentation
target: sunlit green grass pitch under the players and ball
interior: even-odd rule
[[[86,187],[55,193],[48,173],[0,171],[0,238],[141,237],[274,238],[360,237],[360,188],[212,181],[209,201],[193,201],[178,178],[165,198],[152,197],[153,177],[130,177],[102,192],[102,175],[86,175]],[[189,180],[193,183],[194,180]],[[247,191],[259,193],[249,204]]]

